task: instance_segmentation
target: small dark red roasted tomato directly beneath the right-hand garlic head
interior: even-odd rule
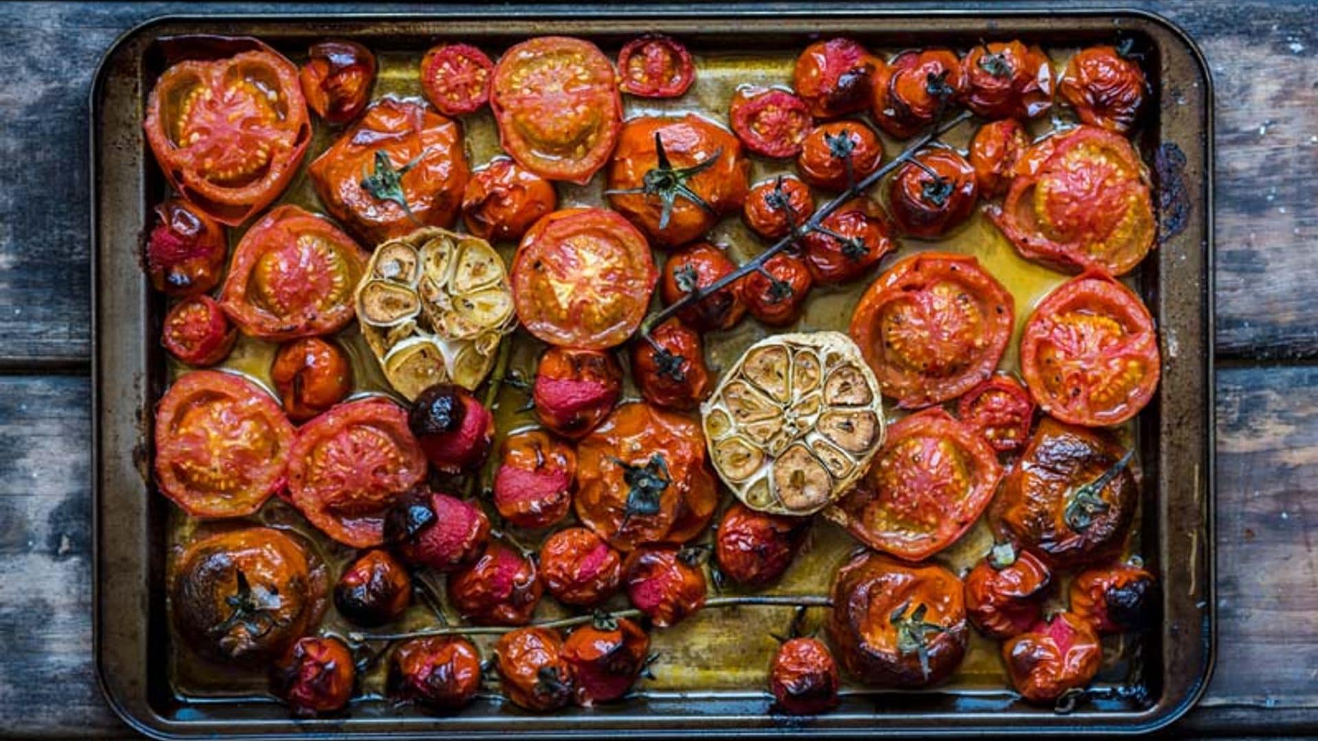
[[[749,587],[770,584],[792,564],[809,531],[809,518],[755,512],[737,502],[718,521],[718,570]]]

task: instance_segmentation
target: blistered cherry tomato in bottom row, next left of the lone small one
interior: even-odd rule
[[[650,636],[625,617],[600,614],[568,636],[563,658],[576,674],[577,704],[589,708],[627,694],[650,658]]]

